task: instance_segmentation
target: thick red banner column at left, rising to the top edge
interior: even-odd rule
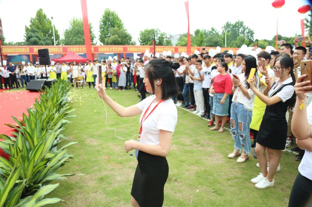
[[[82,21],[83,21],[83,33],[84,33],[84,44],[87,52],[87,59],[92,60],[92,50],[91,50],[91,36],[88,20],[88,8],[87,0],[81,0],[81,10],[82,10]]]

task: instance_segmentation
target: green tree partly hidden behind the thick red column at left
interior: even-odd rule
[[[91,44],[95,44],[96,35],[93,33],[91,22],[89,23]],[[61,40],[63,45],[84,45],[83,22],[81,18],[70,20],[69,28],[64,31],[64,38]]]

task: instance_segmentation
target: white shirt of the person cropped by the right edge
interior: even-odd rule
[[[312,104],[307,107],[308,122],[312,125]],[[312,136],[312,135],[311,135]],[[312,152],[306,150],[298,168],[300,174],[312,180]]]

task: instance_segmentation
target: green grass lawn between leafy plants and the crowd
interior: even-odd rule
[[[137,104],[137,92],[107,90],[117,103]],[[71,103],[76,118],[63,134],[78,141],[68,148],[79,161],[70,160],[57,173],[83,173],[59,181],[48,197],[64,200],[54,207],[129,207],[130,191],[137,160],[134,150],[125,153],[124,142],[105,126],[105,109],[95,89],[73,89]],[[116,135],[132,138],[139,130],[139,116],[118,117],[107,108],[107,126],[117,128]],[[227,124],[229,128],[229,124]],[[134,138],[137,139],[137,136]],[[257,207],[288,205],[299,162],[285,152],[281,171],[274,176],[275,186],[257,190],[250,182],[260,173],[253,157],[243,164],[227,155],[233,151],[233,139],[224,133],[209,131],[207,121],[178,108],[178,122],[171,152],[167,156],[169,177],[165,185],[165,207]]]

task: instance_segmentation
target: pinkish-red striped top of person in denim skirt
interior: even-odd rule
[[[214,81],[214,89],[215,93],[227,93],[231,94],[232,93],[232,79],[229,74],[226,75],[221,75],[218,74],[215,76],[215,81]]]

